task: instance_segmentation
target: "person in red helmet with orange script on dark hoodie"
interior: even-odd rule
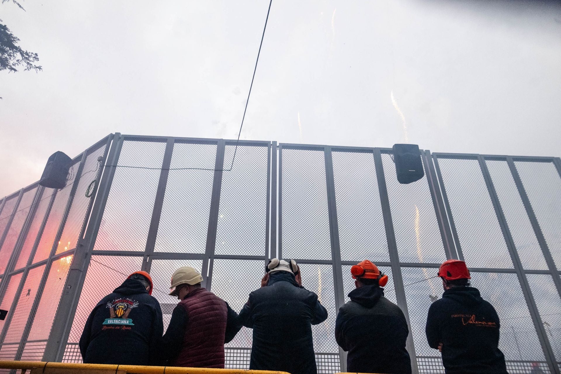
[[[429,308],[426,339],[442,352],[447,374],[506,374],[499,349],[499,316],[495,308],[470,287],[466,263],[448,260],[440,265],[444,294]]]

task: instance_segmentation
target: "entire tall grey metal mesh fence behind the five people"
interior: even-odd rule
[[[167,147],[171,140],[172,149]],[[432,278],[446,258],[443,242],[456,247],[452,256],[455,249],[465,257],[473,268],[473,285],[498,312],[499,348],[508,371],[550,372],[553,362],[546,362],[544,352],[559,362],[561,279],[551,261],[553,257],[561,269],[558,160],[508,158],[514,160],[545,237],[547,247],[542,248],[505,156],[485,155],[486,168],[481,168],[482,156],[427,153],[425,161],[438,160],[436,175],[424,164],[429,171],[424,178],[399,184],[388,149],[333,147],[329,157],[325,146],[275,149],[270,142],[241,141],[231,171],[162,172],[159,168],[166,162],[170,168],[213,169],[222,152],[228,169],[235,144],[118,135],[102,164],[118,160],[121,167],[103,169],[94,203],[85,191],[102,171],[98,157],[106,154],[106,144],[107,139],[89,149],[83,164],[75,159],[62,190],[42,188],[42,195],[34,198],[39,190],[32,185],[0,199],[0,207],[5,200],[0,208],[0,273],[6,270],[0,281],[0,308],[9,311],[6,321],[0,321],[2,359],[81,362],[77,343],[89,313],[140,269],[153,277],[153,295],[162,307],[165,327],[177,304],[168,295],[169,279],[184,265],[201,270],[205,284],[239,312],[249,293],[260,287],[268,241],[278,240],[283,258],[304,260],[304,287],[318,294],[329,313],[325,322],[312,327],[319,373],[344,369],[344,355],[339,355],[334,339],[335,317],[355,288],[351,264],[365,258],[389,276],[385,297],[407,305],[414,346],[410,353],[416,356],[418,372],[444,372],[440,352],[428,347],[425,336],[427,311],[443,292],[441,281]],[[270,172],[274,153],[278,175]],[[326,170],[330,159],[333,170]],[[79,167],[81,176],[76,175]],[[386,188],[378,185],[382,175]],[[160,181],[166,181],[165,186]],[[277,196],[272,196],[273,186]],[[496,210],[494,202],[501,209]],[[384,221],[387,213],[391,220]],[[278,230],[267,226],[274,215]],[[441,229],[454,237],[443,240]],[[81,232],[85,237],[80,238]],[[388,248],[392,232],[397,252]],[[510,238],[513,245],[508,247]],[[509,248],[516,250],[515,261]],[[397,256],[399,263],[392,264]],[[83,273],[80,266],[71,267],[76,261],[85,261]],[[390,265],[401,267],[402,279],[394,279]],[[66,296],[72,292],[74,296]],[[528,304],[532,300],[535,306]],[[542,326],[534,325],[536,313]],[[50,347],[53,336],[62,340],[60,347]],[[551,352],[544,351],[543,340]],[[251,344],[252,331],[243,327],[226,345],[226,367],[249,368]]]

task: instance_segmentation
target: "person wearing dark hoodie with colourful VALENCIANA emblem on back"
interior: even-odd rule
[[[136,271],[91,311],[80,338],[84,363],[158,365],[162,310],[150,274]]]

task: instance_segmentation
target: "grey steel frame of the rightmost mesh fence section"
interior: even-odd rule
[[[500,225],[500,230],[503,234],[504,241],[508,248],[509,255],[512,258],[514,269],[493,269],[493,268],[481,267],[481,268],[471,268],[471,270],[475,272],[482,272],[482,273],[484,272],[509,273],[509,274],[517,275],[518,281],[522,288],[522,293],[524,295],[526,304],[528,306],[528,311],[530,312],[532,322],[534,323],[537,336],[540,340],[541,348],[544,351],[546,364],[548,365],[551,373],[559,373],[560,366],[561,366],[559,362],[561,362],[561,358],[557,358],[557,359],[555,358],[553,349],[551,347],[549,338],[546,334],[544,324],[542,323],[541,316],[539,310],[537,309],[536,302],[534,296],[532,295],[526,275],[527,274],[551,275],[560,297],[561,297],[561,278],[557,276],[559,274],[559,271],[557,270],[557,267],[555,267],[553,257],[551,256],[551,252],[549,251],[548,245],[545,242],[545,238],[543,236],[543,233],[541,232],[540,225],[534,214],[534,210],[532,209],[531,202],[528,199],[527,193],[522,184],[521,178],[518,174],[518,170],[516,168],[516,165],[514,164],[514,161],[553,163],[555,165],[555,169],[557,169],[559,177],[561,177],[561,161],[559,160],[559,158],[554,158],[554,157],[481,155],[481,154],[461,154],[461,153],[433,153],[431,154],[431,158],[433,159],[436,168],[436,175],[438,176],[438,183],[440,184],[440,188],[442,191],[442,196],[443,196],[444,205],[449,220],[450,229],[452,230],[452,235],[457,250],[457,256],[458,256],[457,258],[459,258],[460,260],[464,259],[461,243],[458,237],[456,224],[454,223],[454,216],[452,213],[452,209],[450,208],[450,202],[445,189],[442,170],[440,168],[438,160],[439,159],[476,160],[477,163],[479,164],[479,168],[481,170],[486,188],[489,193],[489,197],[491,198],[491,202],[493,204],[493,209],[496,214],[496,219],[498,220],[498,223]],[[522,200],[523,206],[528,215],[528,219],[530,220],[530,223],[532,225],[532,230],[537,238],[537,241],[539,242],[540,249],[544,254],[546,264],[548,265],[548,270],[527,270],[522,266],[522,262],[520,260],[518,251],[516,249],[516,244],[513,241],[511,230],[508,227],[507,219],[505,218],[503,207],[495,190],[493,179],[491,178],[491,174],[489,173],[489,169],[488,169],[488,165],[486,164],[486,161],[505,161],[507,163],[512,178],[514,180],[514,183],[516,184],[519,197]]]

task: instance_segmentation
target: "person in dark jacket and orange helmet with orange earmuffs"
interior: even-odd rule
[[[402,310],[384,297],[388,276],[369,260],[351,267],[355,289],[339,308],[335,339],[348,351],[347,371],[411,374],[405,349],[409,330]]]

